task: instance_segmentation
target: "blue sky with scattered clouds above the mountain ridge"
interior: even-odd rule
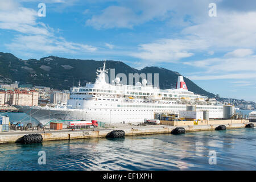
[[[256,101],[255,17],[253,0],[1,0],[0,51],[163,67],[221,97]]]

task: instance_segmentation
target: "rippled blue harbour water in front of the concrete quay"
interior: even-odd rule
[[[255,129],[0,145],[1,170],[255,170]],[[38,152],[46,151],[46,165]],[[209,165],[209,151],[217,164]]]

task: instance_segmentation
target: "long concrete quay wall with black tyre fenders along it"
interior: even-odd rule
[[[244,128],[249,121],[244,121],[242,123],[228,123],[222,124],[226,126],[226,129],[238,129]],[[184,127],[186,132],[193,131],[208,131],[214,130],[217,125],[187,125],[187,126],[168,126],[168,125],[127,125],[127,124],[114,124],[111,128],[97,128],[97,129],[84,129],[75,130],[70,129],[63,130],[47,130],[47,131],[9,131],[7,133],[0,133],[0,143],[15,143],[17,140],[26,134],[39,133],[43,136],[43,141],[48,140],[69,140],[69,139],[82,139],[82,138],[101,138],[106,137],[106,135],[112,130],[123,130],[126,136],[135,135],[148,135],[148,134],[167,134],[171,133],[176,127]]]

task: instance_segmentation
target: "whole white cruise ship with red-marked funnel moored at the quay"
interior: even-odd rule
[[[209,118],[222,118],[223,106],[214,99],[189,92],[183,77],[179,76],[176,89],[159,89],[147,85],[147,80],[135,85],[122,85],[115,78],[105,81],[103,69],[97,69],[95,83],[88,82],[71,88],[67,105],[56,107],[15,106],[42,124],[53,120],[97,120],[105,123],[143,122],[154,118],[155,113],[175,113],[196,105],[196,110],[208,110]]]

